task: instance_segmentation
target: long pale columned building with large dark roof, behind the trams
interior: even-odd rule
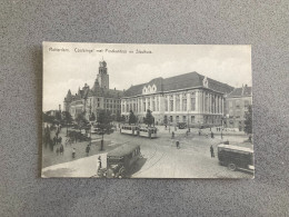
[[[156,124],[166,120],[172,125],[220,126],[223,117],[223,96],[233,90],[229,85],[197,72],[170,78],[156,78],[147,83],[131,86],[121,99],[121,114],[130,110],[143,121],[147,109]]]

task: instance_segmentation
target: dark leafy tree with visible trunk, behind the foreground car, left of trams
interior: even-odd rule
[[[112,125],[112,116],[111,112],[108,110],[99,110],[98,112],[98,118],[97,118],[97,122],[98,122],[98,128],[101,131],[102,138],[101,138],[101,145],[100,145],[100,150],[103,150],[103,136],[104,134],[109,134],[111,131]]]

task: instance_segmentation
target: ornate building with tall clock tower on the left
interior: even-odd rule
[[[99,62],[99,72],[92,88],[87,83],[82,89],[79,88],[76,95],[68,90],[64,98],[64,110],[69,111],[72,118],[78,114],[84,112],[89,119],[93,112],[96,116],[99,109],[110,110],[112,115],[120,114],[120,101],[123,91],[109,89],[109,75],[106,61]]]

